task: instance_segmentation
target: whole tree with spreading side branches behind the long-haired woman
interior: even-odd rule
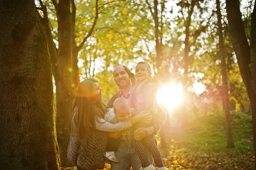
[[[44,26],[49,53],[52,63],[52,72],[56,85],[56,129],[58,144],[60,150],[62,166],[68,166],[67,145],[69,139],[69,122],[73,109],[73,100],[75,97],[75,89],[79,83],[78,52],[84,46],[93,33],[94,27],[98,19],[98,0],[95,1],[96,15],[93,24],[81,40],[81,43],[76,43],[76,4],[74,0],[52,0],[55,8],[58,22],[58,48],[54,43],[52,35],[51,23],[49,22],[47,6],[42,0],[39,0],[40,9],[43,12],[43,17],[38,13],[42,25]]]

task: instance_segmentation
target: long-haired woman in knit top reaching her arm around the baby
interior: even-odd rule
[[[111,124],[105,121],[105,105],[102,103],[102,88],[98,81],[88,78],[78,85],[70,121],[68,159],[78,170],[103,169],[105,165],[107,133],[125,130],[140,120],[150,122],[151,115],[141,112],[128,121]]]

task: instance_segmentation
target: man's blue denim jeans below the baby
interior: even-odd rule
[[[133,170],[139,170],[141,167],[140,158],[132,146],[131,143],[121,140],[119,144],[118,151],[116,153],[116,158],[119,160],[119,163],[112,162],[111,170],[130,170],[131,167]],[[153,158],[152,154],[146,149],[148,155],[148,160],[152,164]]]

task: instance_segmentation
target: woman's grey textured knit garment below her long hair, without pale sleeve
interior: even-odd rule
[[[71,134],[70,141],[67,148],[68,159],[87,170],[90,169],[103,169],[105,166],[104,153],[106,151],[106,132],[90,129],[88,134],[83,140],[76,138],[77,127],[76,118],[77,107],[74,109],[71,119]]]

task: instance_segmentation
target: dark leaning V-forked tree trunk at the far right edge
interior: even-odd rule
[[[239,0],[226,0],[226,9],[231,42],[250,98],[253,118],[253,147],[256,155],[256,6],[254,4],[251,15],[250,46],[244,31]]]

